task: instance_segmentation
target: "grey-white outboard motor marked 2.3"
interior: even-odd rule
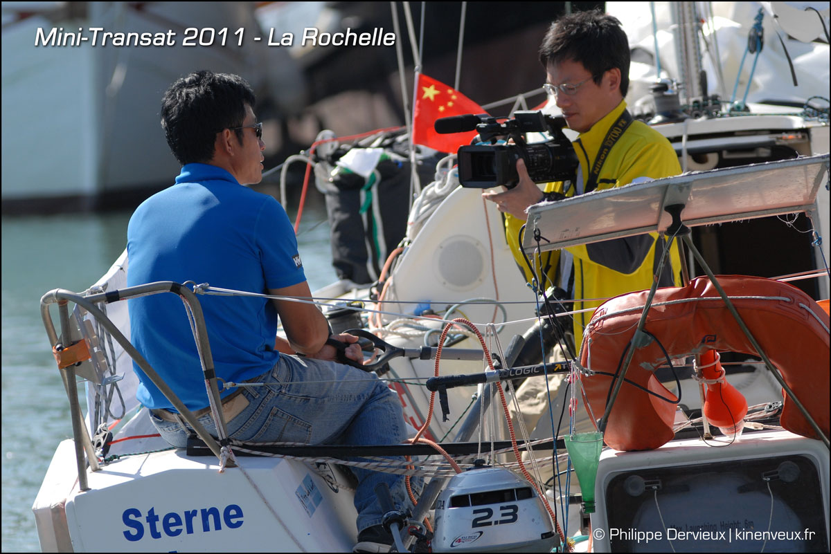
[[[435,501],[433,552],[550,552],[559,537],[542,499],[509,469],[470,469]]]

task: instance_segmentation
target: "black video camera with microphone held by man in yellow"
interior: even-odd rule
[[[481,142],[491,142],[459,148],[459,182],[469,188],[515,187],[519,182],[519,158],[525,161],[534,182],[573,181],[579,162],[571,141],[563,134],[564,126],[562,117],[543,115],[538,110],[514,112],[514,119],[502,123],[488,115],[459,115],[435,121],[436,133],[476,129]],[[533,144],[525,141],[526,133],[543,131],[548,131],[552,139]],[[496,144],[498,138],[514,139],[514,144]]]

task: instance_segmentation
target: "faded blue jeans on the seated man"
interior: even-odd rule
[[[279,362],[247,386],[248,406],[227,422],[232,439],[248,442],[299,442],[309,445],[397,445],[406,440],[406,426],[397,396],[373,373],[337,362],[281,355]],[[150,413],[150,420],[170,445],[184,448],[188,428]],[[199,423],[216,436],[210,414]],[[391,459],[401,459],[400,457]],[[392,502],[412,508],[403,475],[350,466],[358,486],[355,508],[358,531],[379,525],[384,513],[375,487],[386,483]],[[414,492],[422,480],[411,479]]]

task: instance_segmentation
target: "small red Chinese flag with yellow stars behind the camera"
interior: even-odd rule
[[[452,115],[486,113],[479,104],[458,90],[422,73],[418,76],[416,90],[413,143],[435,148],[440,152],[456,153],[460,146],[470,144],[477,134],[476,131],[438,134],[433,128],[435,120]]]

